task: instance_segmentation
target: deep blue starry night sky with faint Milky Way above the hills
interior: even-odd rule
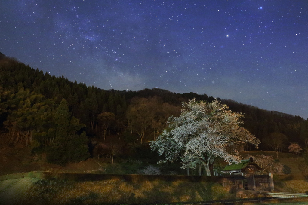
[[[308,118],[307,0],[0,0],[0,52],[105,90],[196,92]]]

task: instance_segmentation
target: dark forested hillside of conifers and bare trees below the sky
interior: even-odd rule
[[[120,148],[112,142],[102,143],[109,136],[122,142],[121,150],[134,152],[123,157],[149,153],[147,142],[160,134],[169,116],[180,115],[182,101],[192,98],[214,100],[206,94],[178,94],[157,88],[102,90],[71,82],[64,76],[44,74],[39,68],[33,69],[0,53],[1,138],[12,145],[27,144],[33,152],[46,152],[47,159],[57,164],[103,156],[103,150],[112,150],[112,146],[114,155],[119,154]],[[291,142],[307,145],[307,121],[302,117],[233,100],[221,102],[229,105],[231,111],[245,114],[243,127],[261,141],[272,133],[282,133],[286,140],[280,150],[286,150]],[[259,147],[270,150],[262,143]],[[247,145],[244,149],[252,148]]]

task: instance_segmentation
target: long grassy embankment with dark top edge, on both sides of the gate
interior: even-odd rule
[[[279,191],[292,188],[294,181],[308,186],[304,176],[275,176],[274,180]],[[236,193],[221,182],[222,177],[215,176],[28,172],[0,176],[0,204],[167,204],[236,199]]]

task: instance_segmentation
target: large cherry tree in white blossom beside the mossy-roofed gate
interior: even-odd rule
[[[150,143],[153,151],[164,155],[160,162],[175,161],[180,158],[181,168],[202,164],[207,175],[211,175],[217,157],[225,161],[239,162],[239,143],[260,143],[245,128],[240,127],[242,114],[226,110],[227,105],[217,99],[213,102],[189,100],[182,102],[184,109],[180,117],[169,117],[168,128]],[[159,163],[160,163],[159,162]]]

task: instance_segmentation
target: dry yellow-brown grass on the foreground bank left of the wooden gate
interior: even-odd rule
[[[8,194],[10,193],[10,194]],[[122,181],[62,181],[29,178],[1,182],[1,196],[15,204],[157,204],[232,199],[218,183]],[[15,197],[18,196],[18,197]],[[1,197],[2,198],[2,197]]]

